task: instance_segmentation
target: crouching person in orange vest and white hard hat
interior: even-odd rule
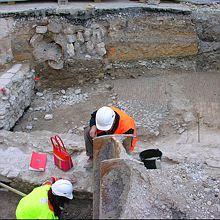
[[[86,154],[89,156],[88,167],[91,166],[93,159],[93,138],[96,136],[110,134],[133,134],[129,152],[134,150],[137,142],[136,125],[132,117],[116,107],[106,107],[98,109],[91,114],[90,126],[84,130]]]

